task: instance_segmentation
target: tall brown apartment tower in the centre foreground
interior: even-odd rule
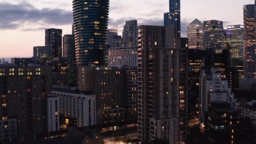
[[[188,63],[181,45],[187,40],[176,39],[174,27],[142,25],[138,41],[138,138],[184,143]]]

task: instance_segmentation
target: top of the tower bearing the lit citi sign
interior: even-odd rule
[[[212,31],[212,30],[223,30],[223,21],[209,20],[203,21],[203,31]]]

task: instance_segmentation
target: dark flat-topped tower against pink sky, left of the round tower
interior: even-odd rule
[[[45,46],[52,48],[52,57],[62,57],[62,29],[45,29]]]

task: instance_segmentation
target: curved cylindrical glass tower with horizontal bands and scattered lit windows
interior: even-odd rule
[[[108,16],[109,0],[73,0],[77,67],[104,65]]]

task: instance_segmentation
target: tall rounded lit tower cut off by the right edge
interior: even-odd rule
[[[254,5],[243,6],[244,15],[244,76],[255,78],[256,54],[255,54],[255,8]]]

